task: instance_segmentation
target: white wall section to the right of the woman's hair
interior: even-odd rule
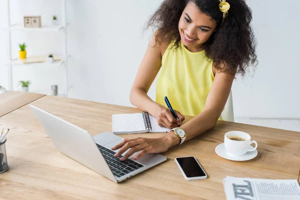
[[[300,16],[297,0],[247,0],[253,11],[259,64],[232,87],[237,117],[300,119]]]

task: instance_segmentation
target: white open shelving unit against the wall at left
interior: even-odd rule
[[[4,28],[3,30],[8,31],[8,61],[7,63],[5,63],[5,65],[8,66],[8,89],[9,90],[13,90],[13,66],[14,65],[41,65],[41,66],[62,66],[64,67],[64,74],[63,74],[63,78],[64,78],[64,88],[63,88],[63,94],[59,94],[61,96],[68,96],[68,90],[69,90],[69,86],[68,86],[68,71],[67,71],[67,58],[70,57],[67,54],[67,31],[66,31],[66,26],[67,26],[67,22],[66,22],[66,0],[61,0],[61,16],[62,16],[62,23],[60,25],[43,25],[42,27],[24,27],[22,23],[15,23],[15,24],[11,24],[10,22],[10,0],[7,0],[7,19],[8,19],[8,25],[6,28]],[[11,31],[37,31],[37,32],[53,32],[53,31],[62,31],[63,32],[63,44],[62,44],[62,48],[63,48],[63,56],[61,57],[61,60],[59,61],[55,61],[53,63],[47,63],[47,62],[36,62],[36,63],[26,63],[23,64],[22,62],[20,62],[17,58],[12,58],[11,57]],[[50,85],[49,85],[50,86]],[[46,93],[46,94],[50,94],[50,89],[46,89],[45,92],[43,92],[44,90],[38,90],[40,91],[40,93]],[[33,91],[32,91],[33,92]]]

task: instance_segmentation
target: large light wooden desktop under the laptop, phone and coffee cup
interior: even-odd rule
[[[92,135],[111,131],[111,114],[139,112],[136,108],[57,96],[44,96],[32,104]],[[299,177],[300,140],[299,132],[294,131],[219,121],[212,130],[162,153],[167,161],[114,183],[58,152],[28,105],[0,117],[0,127],[11,129],[6,142],[9,169],[0,174],[0,197],[5,199],[225,199],[222,180],[226,175]],[[223,142],[224,133],[230,130],[248,132],[258,142],[258,155],[254,159],[230,161],[214,152],[215,146]],[[187,155],[197,158],[207,172],[207,179],[187,181],[183,178],[174,158]]]

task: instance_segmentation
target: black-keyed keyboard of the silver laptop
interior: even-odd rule
[[[97,146],[101,151],[104,159],[106,160],[113,175],[117,177],[121,177],[122,175],[130,173],[131,171],[134,171],[144,166],[129,158],[127,158],[124,161],[120,161],[119,158],[122,156],[114,157],[113,155],[115,154],[115,152],[113,150],[110,150],[109,148],[106,148],[100,144],[97,144]]]

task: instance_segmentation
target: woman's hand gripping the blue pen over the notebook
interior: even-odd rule
[[[167,127],[169,129],[172,129],[172,128],[182,125],[184,116],[177,110],[174,110],[174,112],[175,112],[175,115],[177,116],[178,120],[173,117],[169,108],[161,107],[157,111],[156,116],[155,116],[158,125],[161,127]]]

